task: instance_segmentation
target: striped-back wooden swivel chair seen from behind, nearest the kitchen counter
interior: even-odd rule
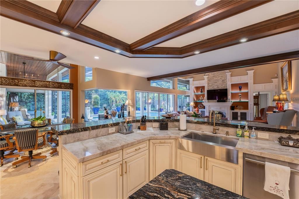
[[[19,130],[15,131],[16,140],[16,148],[19,152],[21,151],[28,151],[28,156],[22,156],[21,160],[17,160],[12,163],[13,168],[16,168],[17,164],[25,162],[29,160],[28,167],[31,166],[31,159],[43,159],[42,161],[46,160],[45,155],[41,155],[42,153],[33,154],[33,150],[37,150],[45,145],[45,134],[44,132],[42,135],[38,135],[37,129],[26,129],[26,130]],[[41,138],[39,138],[41,137]]]

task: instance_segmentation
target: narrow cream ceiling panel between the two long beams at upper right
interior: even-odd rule
[[[299,10],[299,1],[275,0],[253,8],[222,21],[194,30],[167,42],[156,45],[158,47],[182,47],[208,39],[232,30],[265,21],[280,15]],[[241,38],[240,38],[241,39]]]

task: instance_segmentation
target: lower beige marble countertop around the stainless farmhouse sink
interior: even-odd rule
[[[152,139],[176,139],[183,137],[190,132],[199,132],[211,134],[207,132],[200,132],[194,130],[179,131],[177,128],[169,128],[168,131],[160,131],[154,128],[154,133],[134,133],[120,134],[115,133],[102,137],[97,137],[89,140],[69,143],[62,145],[65,152],[74,158],[77,163],[85,162],[105,154],[124,149],[134,144],[141,143]],[[223,134],[213,134],[216,136],[224,136]],[[228,136],[237,138],[234,136]],[[281,146],[274,141],[260,140],[260,139],[245,139],[239,138],[236,149],[243,153],[259,155],[263,157],[273,158],[286,162],[299,164],[299,148]]]

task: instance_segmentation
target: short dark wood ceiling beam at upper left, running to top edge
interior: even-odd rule
[[[61,24],[76,28],[100,0],[62,0],[56,12]]]

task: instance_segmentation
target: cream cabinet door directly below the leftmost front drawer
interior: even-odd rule
[[[122,162],[83,177],[84,198],[122,198]]]

